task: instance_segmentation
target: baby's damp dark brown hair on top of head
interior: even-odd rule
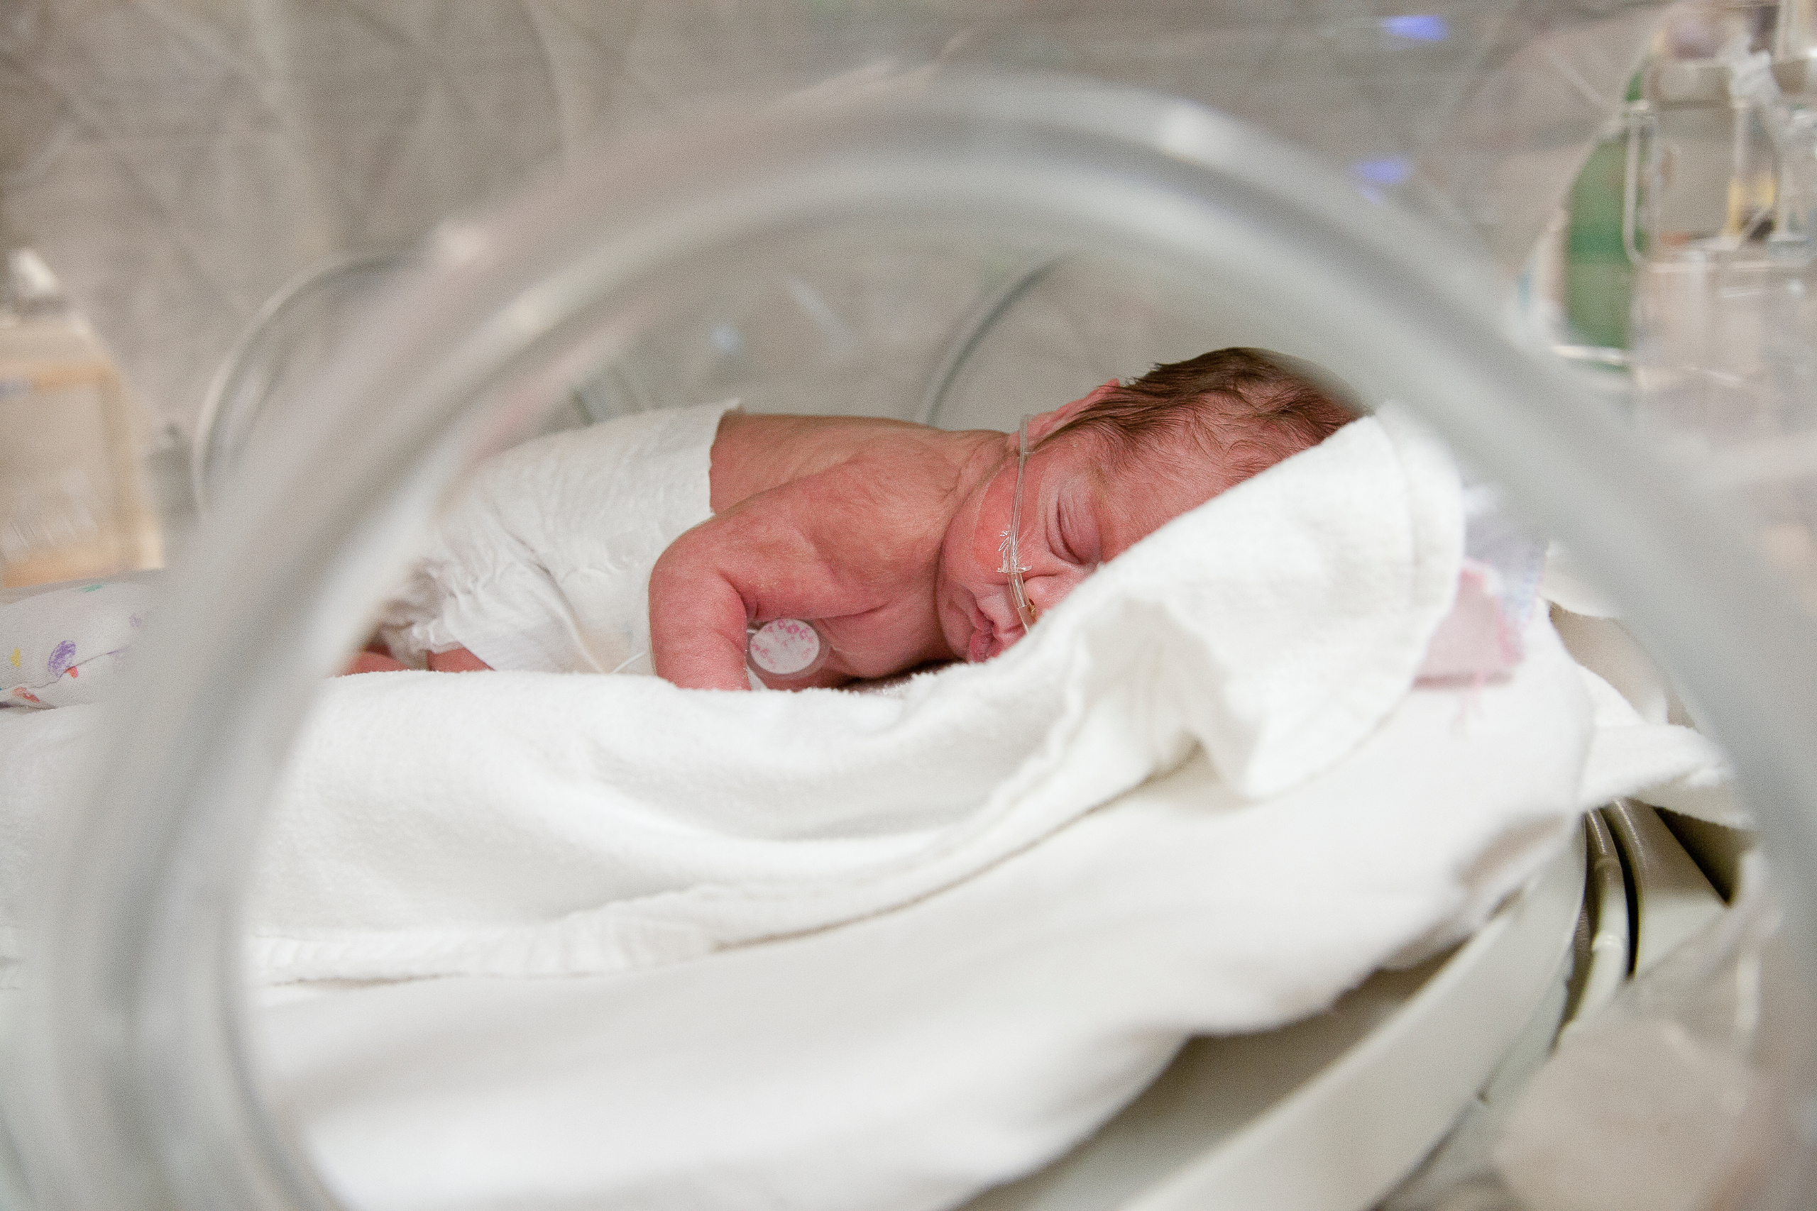
[[[1266,349],[1217,349],[1156,365],[1114,387],[1045,438],[1085,432],[1105,443],[1107,470],[1137,456],[1203,454],[1228,470],[1223,490],[1317,445],[1355,419],[1341,389],[1317,370]],[[1043,445],[1045,445],[1043,441]],[[1203,459],[1181,459],[1181,472]]]

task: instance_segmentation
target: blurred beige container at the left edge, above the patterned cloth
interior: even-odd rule
[[[120,370],[29,249],[0,292],[0,586],[162,563]]]

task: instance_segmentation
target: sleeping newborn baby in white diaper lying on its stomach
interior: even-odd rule
[[[1348,419],[1305,367],[1259,349],[1030,418],[1018,608],[1018,434],[736,405],[621,418],[482,468],[380,634],[429,668],[647,661],[634,672],[710,690],[750,686],[749,628],[779,617],[810,619],[830,648],[789,686],[985,661],[1099,563]]]

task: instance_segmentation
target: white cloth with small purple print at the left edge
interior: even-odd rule
[[[0,706],[98,701],[151,617],[153,590],[91,581],[0,605]]]

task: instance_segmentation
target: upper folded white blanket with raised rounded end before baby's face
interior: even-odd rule
[[[1406,694],[1461,545],[1445,452],[1365,419],[1152,534],[1005,657],[899,697],[333,683],[254,882],[260,970],[674,962],[918,901],[1194,746],[1234,793],[1277,795]]]

